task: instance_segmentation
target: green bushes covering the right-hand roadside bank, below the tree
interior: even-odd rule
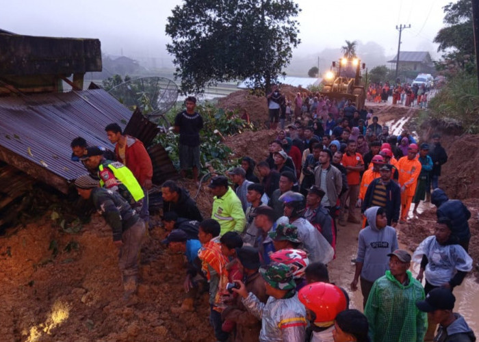
[[[475,74],[458,73],[439,90],[428,105],[431,118],[444,125],[459,125],[469,133],[479,133],[479,91]]]

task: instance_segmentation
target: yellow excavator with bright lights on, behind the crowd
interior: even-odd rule
[[[366,100],[364,84],[361,82],[361,67],[365,64],[356,57],[343,57],[339,62],[333,62],[331,70],[324,77],[324,86],[320,94],[341,101],[351,100],[358,110],[363,109]]]

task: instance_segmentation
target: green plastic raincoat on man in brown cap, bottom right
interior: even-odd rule
[[[424,341],[428,318],[416,307],[418,300],[424,300],[424,289],[409,270],[406,273],[406,286],[391,271],[374,282],[364,309],[374,342]]]

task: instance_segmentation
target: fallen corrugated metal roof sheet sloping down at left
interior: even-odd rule
[[[43,174],[72,181],[86,170],[70,160],[71,140],[81,136],[90,145],[113,149],[105,126],[117,122],[125,129],[130,117],[131,111],[105,90],[1,97],[0,155],[5,159],[5,151],[13,153],[20,159],[15,166],[27,174],[38,175],[34,165],[47,170]]]

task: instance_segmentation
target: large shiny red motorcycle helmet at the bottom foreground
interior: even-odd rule
[[[314,323],[335,320],[336,315],[346,310],[346,296],[339,287],[326,282],[313,282],[298,292],[300,302],[316,315]]]

